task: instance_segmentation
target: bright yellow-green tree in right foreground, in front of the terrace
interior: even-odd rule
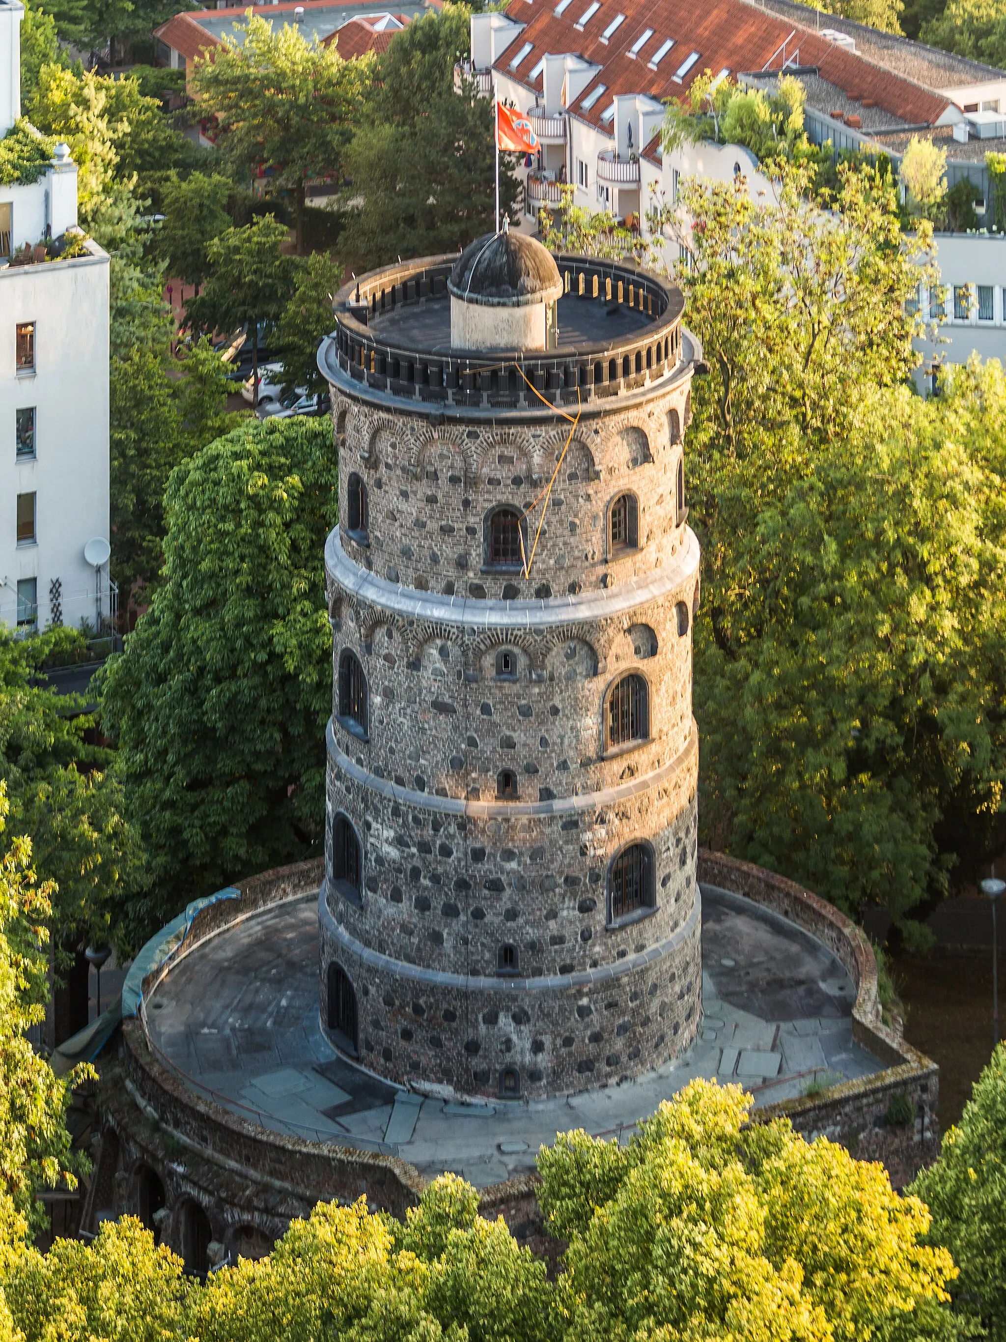
[[[923,1244],[923,1204],[789,1122],[747,1126],[750,1106],[692,1082],[628,1146],[578,1131],[542,1149],[565,1338],[954,1337],[955,1268]]]

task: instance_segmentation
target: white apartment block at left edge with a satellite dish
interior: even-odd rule
[[[0,0],[0,138],[20,115],[23,16]],[[38,181],[0,183],[0,620],[25,632],[109,619],[109,256],[87,242],[44,259],[75,229],[66,145]]]

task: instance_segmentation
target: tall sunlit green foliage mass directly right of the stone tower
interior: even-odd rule
[[[806,181],[785,169],[778,208],[684,192],[710,368],[687,454],[703,829],[912,933],[947,886],[950,817],[981,852],[999,809],[1002,374],[942,404],[900,385],[926,225],[903,236],[867,169],[841,170],[826,217]]]

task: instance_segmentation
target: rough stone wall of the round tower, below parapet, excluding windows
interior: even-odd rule
[[[487,565],[484,527],[547,484],[570,435],[558,412],[445,420],[345,376],[325,345],[319,365],[341,517],[351,478],[366,491],[366,526],[326,546],[330,1037],[392,1080],[459,1095],[562,1094],[659,1066],[702,1016],[699,546],[677,497],[692,364],[585,409],[530,580]],[[616,556],[609,514],[625,493],[638,545]],[[339,717],[346,651],[366,678],[365,733]],[[648,731],[606,750],[608,695],[629,671],[648,687]],[[498,800],[504,769],[515,800]],[[355,883],[334,878],[337,821],[357,837]],[[649,845],[652,906],[616,921],[610,864],[633,843]],[[504,976],[503,947],[516,962]],[[329,994],[345,1001],[346,986],[331,986],[333,965],[355,996],[355,1040],[334,1025]]]

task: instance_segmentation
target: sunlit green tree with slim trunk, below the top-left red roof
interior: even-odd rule
[[[296,197],[296,250],[303,252],[309,178],[338,174],[373,60],[343,60],[335,46],[307,40],[298,27],[248,16],[244,42],[224,36],[213,58],[197,59],[193,90],[215,117],[217,146],[235,168],[275,169],[274,183]]]

